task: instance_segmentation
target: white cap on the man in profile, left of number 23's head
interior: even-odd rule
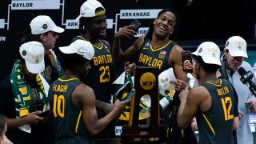
[[[38,15],[30,22],[32,34],[43,34],[48,31],[54,31],[56,33],[62,33],[63,28],[56,26],[54,21],[47,15]]]

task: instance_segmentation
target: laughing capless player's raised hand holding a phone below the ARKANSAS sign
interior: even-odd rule
[[[136,31],[132,30],[134,26],[124,26],[121,30],[114,34],[114,38],[128,38],[133,39]]]

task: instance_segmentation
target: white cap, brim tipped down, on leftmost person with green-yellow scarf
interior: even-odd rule
[[[45,49],[41,42],[26,42],[19,48],[19,54],[25,60],[26,68],[33,74],[45,70]]]

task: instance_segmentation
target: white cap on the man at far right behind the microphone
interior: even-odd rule
[[[226,41],[226,49],[229,50],[229,53],[232,57],[245,57],[248,58],[246,52],[246,41],[239,36],[230,37]]]

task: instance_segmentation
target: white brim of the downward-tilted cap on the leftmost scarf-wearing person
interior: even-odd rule
[[[25,63],[26,63],[27,70],[29,70],[30,73],[32,73],[32,74],[39,74],[39,73],[42,73],[43,70],[45,70],[45,61],[44,60],[42,60],[41,62],[36,63],[36,64],[26,62],[26,61],[25,61]]]

